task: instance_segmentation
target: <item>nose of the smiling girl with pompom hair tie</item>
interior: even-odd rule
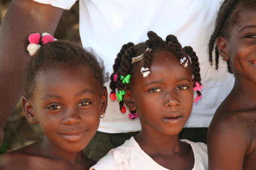
[[[77,109],[67,109],[64,115],[62,119],[64,125],[76,125],[82,121],[82,117]]]

